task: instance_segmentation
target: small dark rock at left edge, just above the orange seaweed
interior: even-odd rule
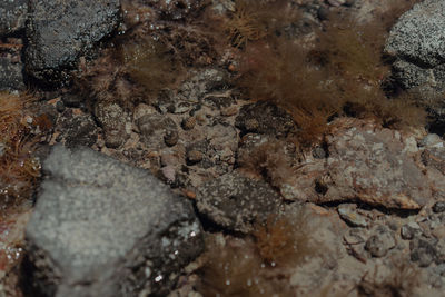
[[[0,90],[24,90],[22,71],[21,62],[13,62],[8,57],[0,57]]]

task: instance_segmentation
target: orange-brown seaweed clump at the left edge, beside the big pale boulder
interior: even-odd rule
[[[0,93],[0,199],[3,207],[30,198],[40,176],[40,164],[32,157],[36,138],[27,115],[31,96]]]

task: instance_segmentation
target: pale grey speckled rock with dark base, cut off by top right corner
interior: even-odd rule
[[[445,131],[445,2],[426,0],[403,14],[393,27],[385,52],[396,60],[394,77],[405,89],[418,91],[435,122]]]

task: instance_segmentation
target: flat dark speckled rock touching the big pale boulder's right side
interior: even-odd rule
[[[280,204],[265,181],[233,171],[208,180],[197,192],[197,207],[215,224],[233,231],[249,232],[255,224],[274,214]]]

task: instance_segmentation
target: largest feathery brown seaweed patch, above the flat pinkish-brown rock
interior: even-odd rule
[[[276,3],[267,1],[258,8],[279,7]],[[295,8],[285,9],[288,13]],[[263,16],[261,11],[256,13]],[[307,43],[277,33],[279,29],[261,29],[261,38],[251,39],[240,50],[237,85],[246,97],[270,100],[293,115],[301,147],[319,143],[335,117],[372,118],[394,129],[423,127],[426,113],[416,100],[406,96],[389,98],[382,88],[390,75],[383,59],[383,46],[388,23],[399,13],[399,9],[390,10],[368,23],[333,13],[315,31],[315,42]],[[264,21],[274,23],[267,17]]]

